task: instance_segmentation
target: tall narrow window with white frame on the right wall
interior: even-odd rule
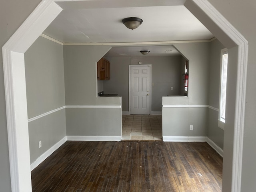
[[[228,72],[228,50],[221,50],[220,107],[218,126],[224,129],[226,116],[226,89]]]

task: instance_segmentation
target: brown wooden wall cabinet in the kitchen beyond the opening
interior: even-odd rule
[[[110,62],[104,58],[97,62],[97,79],[110,80]]]

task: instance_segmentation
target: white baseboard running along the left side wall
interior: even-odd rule
[[[57,142],[54,146],[48,149],[44,154],[42,154],[39,158],[37,158],[32,164],[30,164],[30,170],[32,171],[36,168],[40,163],[42,163],[46,158],[48,158],[54,151],[56,151],[60,146],[62,146],[67,140],[65,136],[62,140]]]

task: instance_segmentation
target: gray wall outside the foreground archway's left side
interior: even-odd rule
[[[0,47],[36,8],[40,0],[1,0],[0,6]],[[4,93],[4,73],[2,51],[0,51],[0,186],[1,191],[11,191],[6,107]]]

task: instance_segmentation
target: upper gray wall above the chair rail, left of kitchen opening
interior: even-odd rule
[[[96,62],[108,46],[64,46],[66,105],[95,105],[97,98]]]

